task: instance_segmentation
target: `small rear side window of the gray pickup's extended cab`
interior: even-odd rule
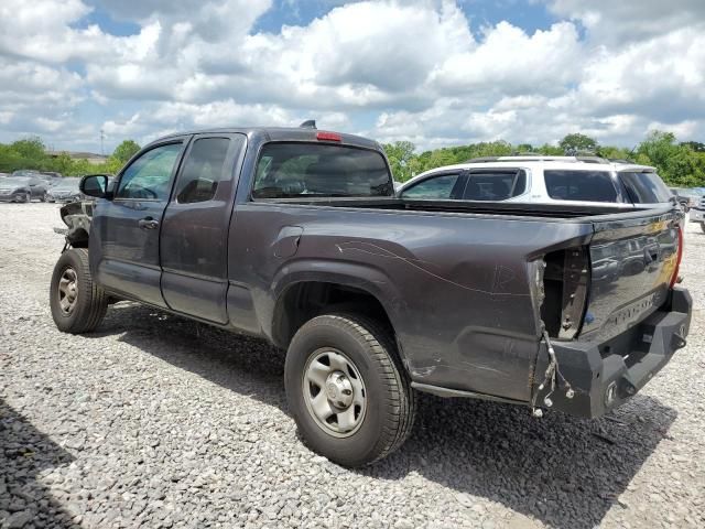
[[[202,138],[194,142],[178,176],[176,201],[180,204],[213,199],[218,183],[228,179],[225,164],[229,145],[227,138]]]

